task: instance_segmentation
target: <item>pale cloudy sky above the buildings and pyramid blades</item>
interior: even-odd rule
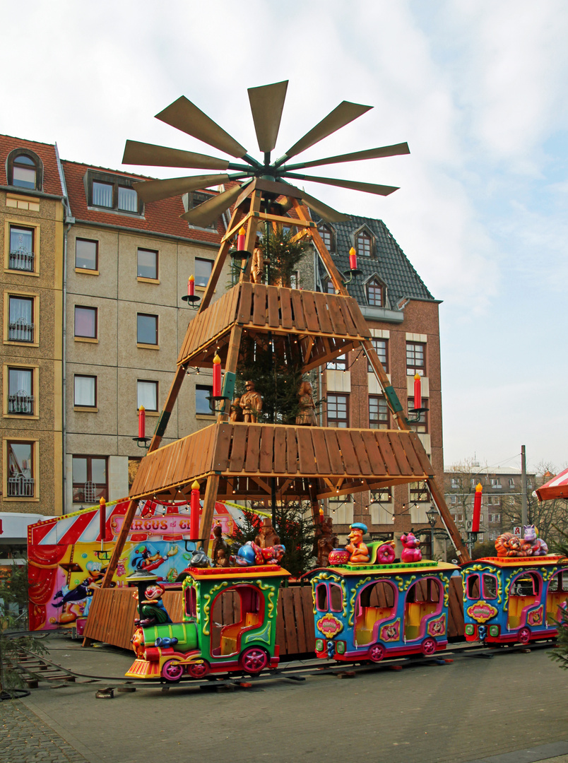
[[[127,137],[215,153],[153,119],[182,94],[253,155],[247,87],[289,79],[281,153],[340,101],[373,105],[302,158],[408,140],[410,156],[318,169],[400,190],[306,189],[382,218],[443,300],[446,463],[519,465],[524,444],[529,467],[568,464],[564,0],[0,0],[0,11],[0,133],[56,141],[64,159],[118,168]]]

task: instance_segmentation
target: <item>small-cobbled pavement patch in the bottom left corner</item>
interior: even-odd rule
[[[19,700],[0,703],[2,763],[86,763],[79,752]]]

